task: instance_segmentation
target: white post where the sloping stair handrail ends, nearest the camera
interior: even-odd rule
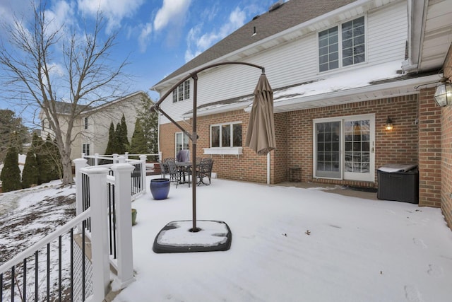
[[[93,299],[103,301],[108,293],[110,267],[107,226],[107,168],[82,168],[90,181],[91,260],[93,263]]]

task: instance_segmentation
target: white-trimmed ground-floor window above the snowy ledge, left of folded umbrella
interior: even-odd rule
[[[210,147],[241,147],[242,122],[210,125]]]

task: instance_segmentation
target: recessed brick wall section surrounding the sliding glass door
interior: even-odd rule
[[[350,180],[314,179],[313,175],[313,123],[324,117],[375,114],[375,168],[386,163],[418,162],[417,136],[417,95],[384,98],[367,102],[335,105],[325,108],[299,110],[287,113],[287,164],[302,166],[302,181],[326,182],[339,185],[359,185],[374,187],[374,182]],[[385,129],[386,119],[391,117],[393,130]]]

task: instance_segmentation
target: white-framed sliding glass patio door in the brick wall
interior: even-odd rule
[[[374,115],[314,120],[314,176],[374,181]]]

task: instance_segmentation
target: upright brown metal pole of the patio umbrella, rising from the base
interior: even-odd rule
[[[191,133],[191,203],[193,212],[193,228],[192,232],[200,231],[196,228],[196,143],[198,134],[196,134],[196,107],[198,106],[198,74],[192,74],[193,78],[193,125]]]

